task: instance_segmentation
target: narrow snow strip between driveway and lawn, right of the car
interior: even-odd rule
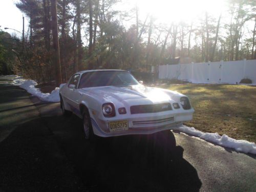
[[[236,140],[227,135],[220,136],[218,133],[204,133],[196,130],[194,127],[181,126],[174,130],[199,137],[200,139],[215,143],[220,146],[233,148],[237,152],[256,154],[256,145],[245,140]]]

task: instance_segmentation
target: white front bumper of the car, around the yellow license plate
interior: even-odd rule
[[[152,114],[126,115],[123,118],[115,117],[110,119],[100,119],[91,116],[91,122],[95,135],[100,137],[112,137],[121,135],[153,134],[163,130],[170,130],[180,127],[184,121],[191,120],[194,110],[187,110],[182,113],[160,112]],[[127,120],[129,130],[110,132],[109,122]]]

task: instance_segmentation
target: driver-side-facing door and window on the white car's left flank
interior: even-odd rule
[[[79,110],[78,100],[79,100],[80,94],[78,93],[78,90],[77,90],[79,79],[80,79],[80,74],[73,75],[68,83],[68,87],[66,91],[67,102],[74,113],[77,113],[77,110]]]

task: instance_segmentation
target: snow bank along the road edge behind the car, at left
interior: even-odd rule
[[[49,102],[59,102],[59,88],[55,88],[51,93],[42,93],[39,89],[35,88],[37,82],[29,79],[24,79],[22,77],[16,77],[11,84],[19,86],[20,88],[25,89],[32,95],[35,95],[43,101]],[[63,84],[60,85],[62,87]]]

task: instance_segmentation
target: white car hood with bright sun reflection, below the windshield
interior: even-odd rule
[[[170,102],[176,100],[177,94],[180,95],[178,92],[143,85],[125,88],[109,86],[82,90],[84,92],[90,92],[90,94],[98,98],[102,98],[102,102],[121,102],[129,105]]]

